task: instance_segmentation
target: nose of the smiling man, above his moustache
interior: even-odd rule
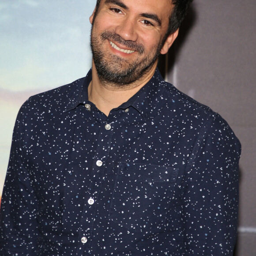
[[[116,34],[120,35],[125,41],[136,41],[138,34],[136,30],[136,21],[126,17],[116,27]]]

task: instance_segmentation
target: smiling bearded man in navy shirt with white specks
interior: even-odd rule
[[[157,70],[190,2],[97,1],[92,70],[18,114],[1,255],[233,255],[240,143]]]

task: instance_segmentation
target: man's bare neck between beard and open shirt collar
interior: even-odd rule
[[[116,84],[109,84],[100,81],[94,65],[92,64],[92,81],[88,87],[88,98],[97,108],[106,116],[111,109],[117,108],[124,102],[127,102],[136,94],[154,75],[157,63],[155,63],[147,74],[141,79],[124,87],[118,87]]]

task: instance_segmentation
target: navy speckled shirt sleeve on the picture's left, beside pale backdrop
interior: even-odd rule
[[[13,132],[11,154],[0,207],[0,255],[34,255],[38,237],[37,208],[23,144],[26,125],[20,109]]]

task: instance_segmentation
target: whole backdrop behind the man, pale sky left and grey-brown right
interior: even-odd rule
[[[20,106],[85,76],[96,0],[0,0],[0,192]],[[235,256],[256,255],[256,4],[194,0],[159,69],[227,120],[242,144]]]

